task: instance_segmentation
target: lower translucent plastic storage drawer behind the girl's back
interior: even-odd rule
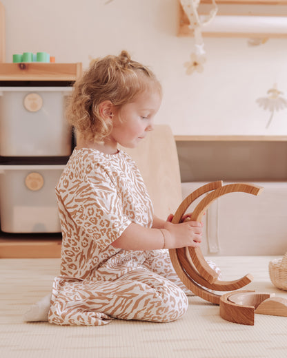
[[[6,233],[61,232],[55,187],[64,165],[1,165],[0,221]]]

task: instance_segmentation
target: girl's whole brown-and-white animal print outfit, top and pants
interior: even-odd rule
[[[172,268],[168,250],[111,245],[132,222],[152,227],[152,204],[128,154],[76,148],[56,193],[63,243],[50,323],[98,326],[112,318],[170,322],[186,313],[188,290]]]

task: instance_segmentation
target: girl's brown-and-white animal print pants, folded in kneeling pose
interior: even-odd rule
[[[112,281],[56,277],[48,320],[99,326],[110,319],[171,322],[186,313],[192,295],[174,271],[167,250],[149,251],[137,268]]]

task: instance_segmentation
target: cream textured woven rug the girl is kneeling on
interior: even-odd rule
[[[275,257],[210,257],[224,280],[251,273],[244,289],[276,293],[268,262]],[[264,358],[287,357],[287,317],[255,315],[255,326],[226,322],[219,306],[189,297],[188,313],[167,323],[113,320],[106,326],[23,323],[28,306],[50,292],[58,259],[0,260],[0,357],[3,358]]]

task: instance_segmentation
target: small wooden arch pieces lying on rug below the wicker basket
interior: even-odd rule
[[[226,321],[253,326],[255,313],[287,317],[287,299],[274,293],[237,291],[220,297],[220,316]]]

